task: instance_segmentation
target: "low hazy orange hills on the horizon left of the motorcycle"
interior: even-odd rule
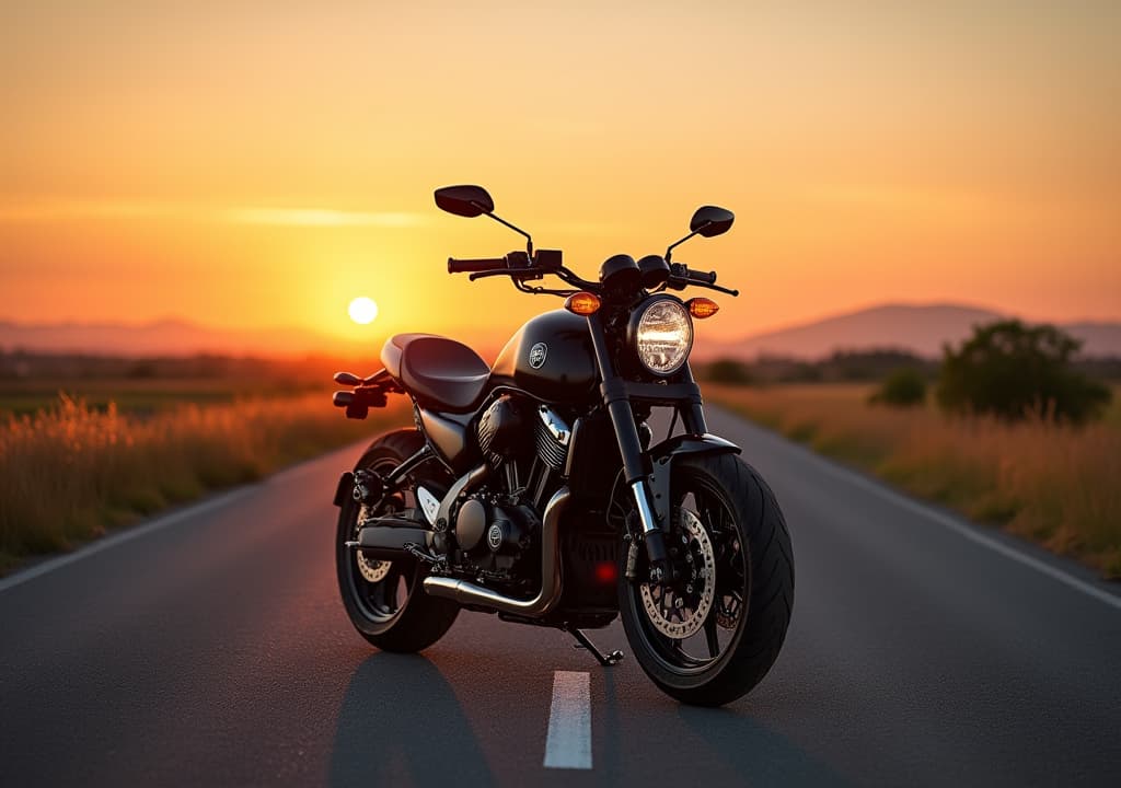
[[[0,350],[112,356],[353,354],[356,345],[300,328],[224,330],[182,319],[117,323],[18,324],[0,321]],[[380,350],[364,349],[367,353]]]

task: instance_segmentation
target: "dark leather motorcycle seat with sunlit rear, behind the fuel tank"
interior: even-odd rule
[[[474,410],[490,377],[490,367],[478,353],[434,334],[390,336],[381,363],[420,405],[445,412]]]

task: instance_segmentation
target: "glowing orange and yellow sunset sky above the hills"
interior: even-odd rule
[[[675,252],[733,339],[882,302],[1121,319],[1121,3],[85,0],[0,10],[0,319],[479,342]],[[378,302],[369,326],[346,305]]]

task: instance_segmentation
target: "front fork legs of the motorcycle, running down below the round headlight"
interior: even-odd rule
[[[592,346],[595,350],[595,360],[599,363],[600,376],[603,380],[600,389],[603,392],[603,401],[608,406],[608,414],[611,416],[611,424],[615,429],[627,485],[631,489],[631,494],[634,497],[639,521],[642,526],[646,553],[650,559],[650,582],[663,583],[670,578],[670,567],[664,538],[665,530],[669,528],[668,501],[666,506],[654,506],[652,491],[650,489],[652,476],[648,467],[646,452],[643,452],[642,443],[639,439],[638,427],[634,424],[634,411],[631,408],[630,392],[627,381],[615,373],[599,313],[590,315],[587,324],[591,330]],[[696,383],[693,381],[693,374],[687,365],[684,378],[684,382],[692,386],[696,391]],[[704,410],[701,407],[700,392],[692,397],[687,404],[677,405],[676,407],[682,415],[683,426],[688,434],[704,435],[708,432],[704,420]],[[630,568],[628,566],[628,569]]]

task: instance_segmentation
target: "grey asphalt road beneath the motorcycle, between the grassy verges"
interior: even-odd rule
[[[795,546],[789,637],[747,698],[680,706],[631,659],[483,614],[424,656],[371,649],[334,580],[350,449],[0,581],[0,784],[1117,785],[1117,587],[710,426]],[[593,637],[627,651],[618,623]],[[590,675],[590,770],[544,766],[556,671]]]

